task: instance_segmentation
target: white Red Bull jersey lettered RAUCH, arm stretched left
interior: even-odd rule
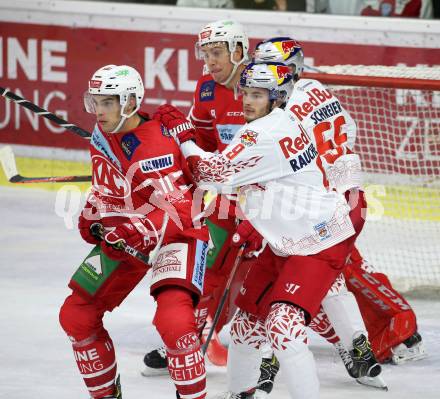
[[[329,191],[314,137],[277,108],[244,125],[220,154],[182,145],[206,190],[239,189],[240,208],[279,255],[310,255],[354,234],[342,194]]]

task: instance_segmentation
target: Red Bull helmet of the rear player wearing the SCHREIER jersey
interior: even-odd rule
[[[304,53],[301,44],[291,37],[274,37],[257,44],[253,62],[280,62],[294,66],[294,77],[298,79],[304,70]]]

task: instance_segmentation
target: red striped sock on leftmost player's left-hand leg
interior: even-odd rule
[[[92,398],[115,391],[116,357],[113,342],[104,329],[99,335],[72,344],[76,364]]]

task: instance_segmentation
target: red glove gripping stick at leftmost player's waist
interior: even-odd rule
[[[156,242],[156,236],[144,235],[133,224],[123,223],[105,234],[101,249],[109,258],[121,261],[132,258],[124,251],[126,245],[147,252]]]

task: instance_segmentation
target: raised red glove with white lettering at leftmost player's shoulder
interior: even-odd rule
[[[196,129],[176,107],[169,104],[161,105],[154,113],[153,119],[165,126],[171,136],[177,139],[178,144],[194,140]]]

